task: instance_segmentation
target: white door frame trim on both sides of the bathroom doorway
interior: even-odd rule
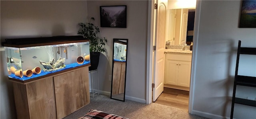
[[[156,1],[152,1],[150,4],[151,4],[151,7],[149,7],[149,9],[150,8],[152,8],[152,6],[154,6],[154,3],[156,3]],[[198,5],[198,3],[199,3],[199,5]],[[200,8],[198,8],[198,6],[200,6],[200,1],[197,3],[197,10],[196,10],[196,12],[199,12],[200,11]],[[149,5],[150,6],[150,5]],[[155,70],[153,70],[154,69],[154,60],[152,60],[152,57],[154,57],[154,52],[153,52],[153,50],[152,50],[152,45],[154,44],[154,41],[155,41],[155,35],[154,35],[154,33],[155,33],[155,31],[154,30],[152,30],[152,28],[154,29],[155,28],[155,26],[154,26],[154,20],[152,20],[154,17],[156,17],[154,14],[154,11],[152,12],[151,10],[150,10],[150,13],[151,13],[151,16],[150,17],[152,17],[151,18],[151,20],[149,20],[150,21],[150,25],[151,25],[151,30],[149,31],[149,37],[150,37],[150,41],[148,41],[148,74],[147,74],[147,98],[146,98],[146,103],[152,103],[152,87],[151,87],[151,85],[152,85],[152,83],[154,83],[154,80],[152,80],[153,79],[153,77],[154,77],[154,71]],[[196,19],[197,18],[199,18],[199,15],[196,15]],[[198,23],[197,23],[198,21],[196,20],[195,21],[195,33],[197,33],[197,30],[198,30],[198,26],[196,26]],[[153,25],[153,26],[152,26]],[[194,35],[194,42],[196,42],[196,39],[197,39],[197,36],[196,36],[196,34]],[[192,97],[193,97],[193,92],[192,92],[192,90],[193,90],[193,76],[194,76],[194,59],[195,59],[195,56],[194,55],[196,55],[196,53],[194,52],[194,51],[196,51],[196,47],[193,47],[193,55],[192,55],[192,70],[191,70],[191,80],[190,80],[190,92],[189,92],[189,95],[190,95],[190,97],[189,97],[189,102],[192,102]],[[188,106],[188,111],[189,111],[189,113],[192,113],[192,103],[189,103],[189,106]]]

